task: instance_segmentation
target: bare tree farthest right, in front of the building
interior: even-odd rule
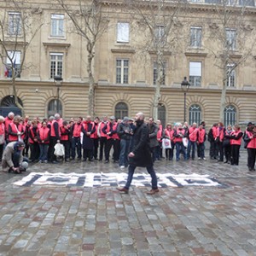
[[[209,22],[210,39],[218,47],[211,51],[215,65],[222,73],[219,120],[224,122],[227,86],[235,83],[234,72],[252,54],[256,34],[252,24],[246,19],[249,9],[245,5],[221,0],[212,5],[212,9],[214,15]]]

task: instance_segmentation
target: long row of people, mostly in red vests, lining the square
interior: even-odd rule
[[[152,117],[147,121],[143,119],[143,122],[148,127],[148,146],[153,162],[162,159],[195,160],[195,157],[207,160],[205,143],[208,141],[211,160],[238,166],[241,144],[244,144],[247,148],[248,170],[255,171],[256,126],[252,123],[248,123],[246,131],[241,131],[239,125],[224,127],[221,122],[213,124],[206,131],[205,122],[199,125],[168,123],[166,127]],[[128,117],[91,119],[87,116],[85,119],[78,117],[63,120],[59,113],[55,113],[49,119],[40,120],[9,113],[6,118],[0,116],[0,160],[2,166],[6,164],[3,150],[13,143],[12,146],[19,146],[22,155],[28,157],[30,162],[55,164],[60,160],[99,160],[108,164],[113,160],[124,169],[129,164],[128,155],[134,148],[136,130],[135,120]],[[242,140],[244,143],[241,143]],[[23,143],[22,147],[18,142]],[[64,148],[62,155],[56,154],[56,145]]]

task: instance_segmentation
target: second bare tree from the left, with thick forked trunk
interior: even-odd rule
[[[73,21],[76,32],[85,39],[87,50],[87,73],[89,76],[88,113],[95,114],[95,79],[93,73],[93,59],[96,41],[108,28],[108,14],[102,11],[100,0],[79,0],[78,8],[69,5],[70,1],[56,0],[61,8]]]

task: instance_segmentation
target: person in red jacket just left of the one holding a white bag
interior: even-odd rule
[[[40,148],[39,163],[47,163],[49,128],[47,127],[46,121],[43,121],[42,127],[38,129],[38,143]]]

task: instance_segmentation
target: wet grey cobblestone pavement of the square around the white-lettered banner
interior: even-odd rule
[[[228,184],[160,189],[17,187],[0,174],[0,255],[256,255],[256,172],[216,160],[167,161],[159,173],[210,174]],[[35,164],[30,172],[120,172],[102,162]],[[124,171],[122,171],[124,172]],[[137,172],[145,172],[137,168]]]

